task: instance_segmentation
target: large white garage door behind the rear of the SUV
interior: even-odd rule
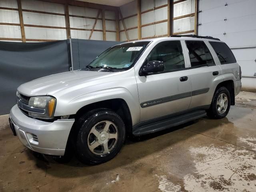
[[[199,0],[198,6],[198,35],[226,42],[242,68],[243,87],[256,90],[256,0]]]

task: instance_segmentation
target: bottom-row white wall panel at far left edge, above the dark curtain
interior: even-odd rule
[[[21,38],[20,26],[0,25],[1,38]]]

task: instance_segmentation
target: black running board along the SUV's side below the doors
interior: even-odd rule
[[[192,120],[196,120],[204,116],[206,116],[205,110],[196,110],[186,114],[174,116],[172,118],[168,118],[168,119],[160,120],[147,125],[139,126],[136,130],[132,132],[132,134],[134,134],[135,136],[140,136],[140,135],[145,135],[149,133],[154,133],[167,128],[178,126],[180,124],[184,124],[186,122],[190,122]]]

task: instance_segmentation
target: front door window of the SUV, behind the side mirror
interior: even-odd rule
[[[184,56],[180,41],[164,41],[158,43],[148,54],[147,61],[164,62],[164,71],[185,68]]]

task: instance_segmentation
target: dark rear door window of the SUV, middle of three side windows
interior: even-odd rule
[[[214,60],[203,41],[186,41],[191,67],[213,66]]]

